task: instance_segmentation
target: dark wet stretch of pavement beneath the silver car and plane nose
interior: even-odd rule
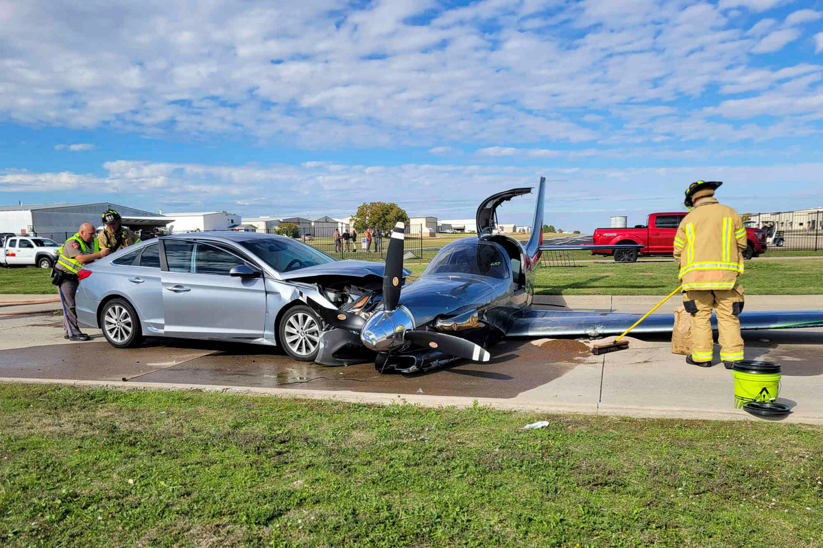
[[[373,363],[325,367],[294,361],[277,348],[148,338],[141,348],[114,348],[104,339],[0,350],[0,377],[139,380],[156,383],[350,390],[514,398],[597,358],[509,341],[486,363],[458,362],[416,375],[381,375]]]

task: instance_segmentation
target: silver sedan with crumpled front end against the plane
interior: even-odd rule
[[[144,336],[201,338],[277,344],[312,361],[323,328],[314,306],[336,315],[379,291],[383,272],[382,263],[338,261],[291,237],[175,234],[84,266],[77,318],[117,348]]]

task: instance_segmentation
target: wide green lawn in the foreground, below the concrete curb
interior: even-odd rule
[[[0,409],[4,546],[823,543],[821,426],[19,385]]]

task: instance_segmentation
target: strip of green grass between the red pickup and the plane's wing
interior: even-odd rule
[[[816,259],[748,260],[739,279],[749,295],[819,295],[823,263]],[[666,295],[680,281],[674,262],[587,263],[537,271],[542,295]]]

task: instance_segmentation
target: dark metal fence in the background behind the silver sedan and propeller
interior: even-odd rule
[[[286,234],[294,237],[295,240],[305,242],[309,246],[315,247],[324,253],[328,253],[337,259],[358,259],[358,260],[384,260],[386,258],[386,250],[388,248],[388,241],[391,238],[390,232],[381,233],[379,230],[373,230],[371,242],[368,242],[365,237],[365,231],[356,233],[355,237],[351,237],[348,233],[349,239],[344,239],[346,231],[341,234],[339,240],[335,238],[335,228],[333,227],[316,227],[316,228],[302,228],[296,229],[296,233]],[[157,236],[167,236],[169,234],[184,234],[188,232],[174,232],[169,233],[164,231],[162,233],[152,232],[151,230],[136,231],[137,236],[142,240],[147,240]],[[212,232],[231,232],[231,231],[212,231]],[[277,228],[269,228],[266,230],[244,230],[241,232],[254,233],[270,233],[277,234]],[[284,231],[285,232],[285,231]],[[34,236],[46,237],[54,242],[62,244],[74,233],[41,233],[38,232]],[[423,257],[423,226],[412,225],[407,228],[405,242],[404,242],[405,258],[407,259],[421,259]]]

